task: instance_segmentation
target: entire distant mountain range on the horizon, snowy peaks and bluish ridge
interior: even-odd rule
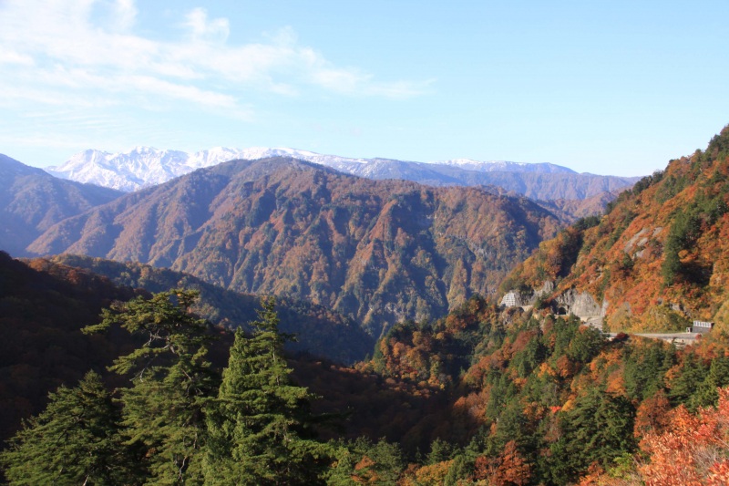
[[[434,163],[392,159],[353,159],[294,149],[215,148],[196,153],[137,147],[120,153],[86,150],[57,167],[46,169],[63,179],[93,183],[120,191],[169,181],[227,160],[270,157],[306,160],[368,179],[402,179],[431,186],[498,186],[531,199],[586,199],[601,192],[619,191],[639,178],[579,174],[549,163],[445,160]]]

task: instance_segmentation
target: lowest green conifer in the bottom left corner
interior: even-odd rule
[[[101,377],[89,371],[76,388],[49,394],[0,455],[10,484],[123,484],[128,460],[118,436],[118,409]]]

